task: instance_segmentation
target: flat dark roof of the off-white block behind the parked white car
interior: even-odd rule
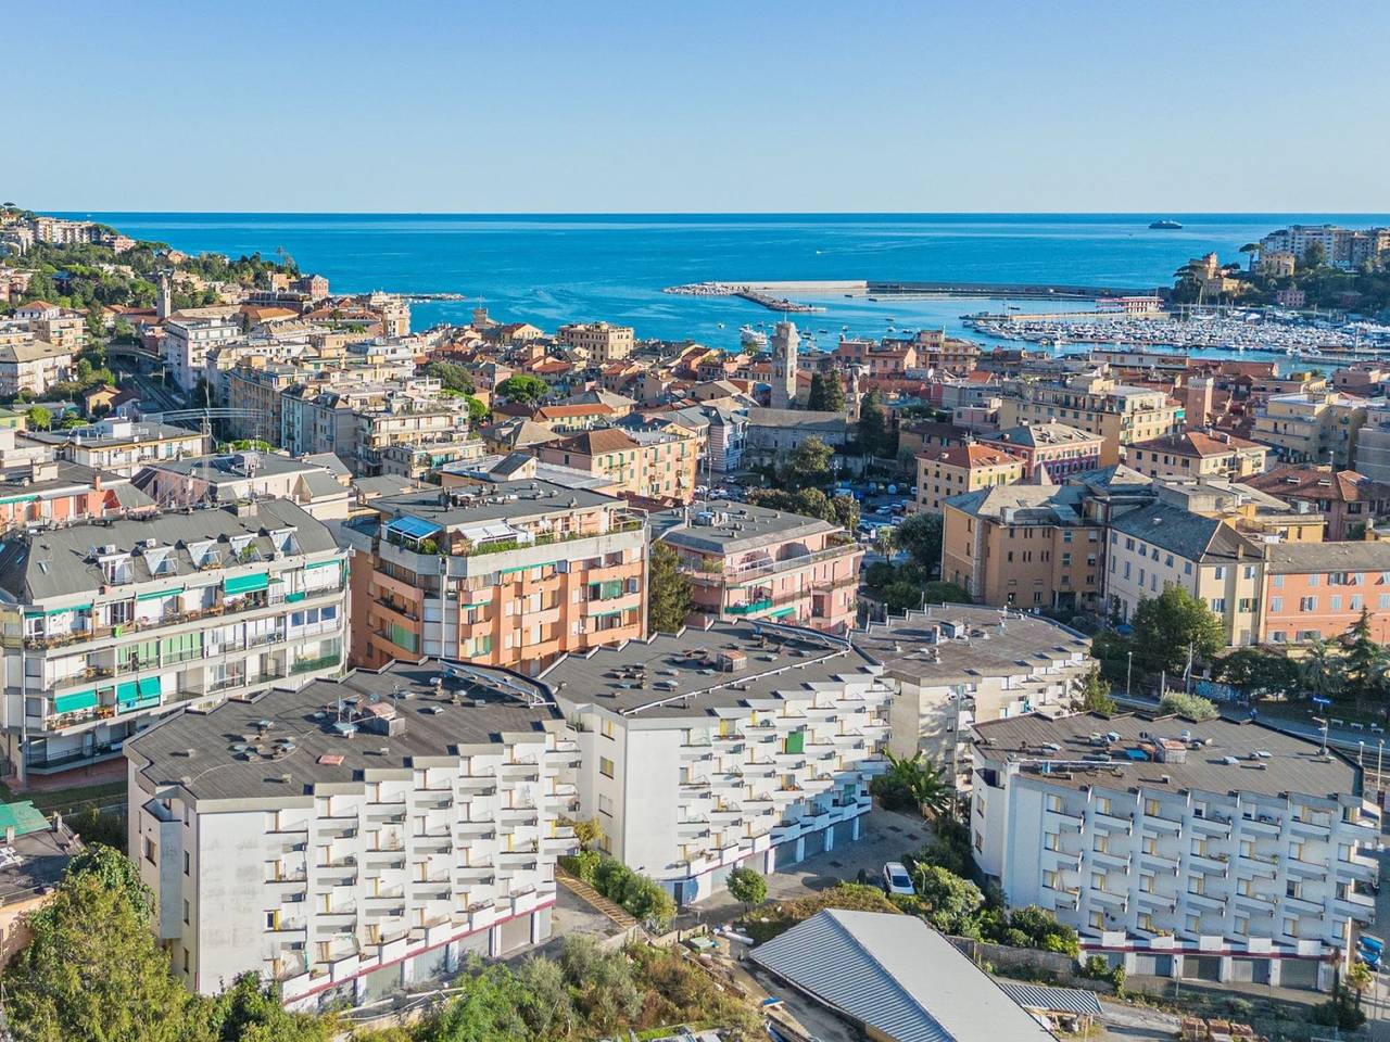
[[[891,672],[940,682],[1013,677],[1091,652],[1088,638],[1049,618],[970,604],[933,604],[849,639]]]

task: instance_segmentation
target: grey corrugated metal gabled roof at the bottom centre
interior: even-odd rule
[[[895,1042],[1054,1038],[915,916],[826,909],[752,959]]]

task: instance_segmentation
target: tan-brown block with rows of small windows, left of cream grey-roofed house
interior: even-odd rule
[[[945,500],[941,577],[994,607],[1094,610],[1104,542],[1086,499],[1084,486],[1066,483],[1004,485]]]

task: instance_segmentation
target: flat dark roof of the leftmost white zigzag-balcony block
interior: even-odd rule
[[[417,759],[453,759],[460,746],[541,732],[560,720],[546,697],[503,670],[436,659],[392,663],[300,690],[232,699],[207,713],[185,710],[126,739],[125,750],[154,788],[178,785],[199,800],[282,800],[360,781],[363,771],[406,770]],[[400,734],[368,731],[377,714],[395,714]],[[342,721],[357,729],[345,734]]]

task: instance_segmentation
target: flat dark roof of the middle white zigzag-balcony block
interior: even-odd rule
[[[735,668],[720,663],[721,656],[734,656]],[[555,692],[563,684],[567,699],[623,716],[688,718],[873,672],[878,665],[844,638],[755,621],[713,622],[570,654],[539,679]]]

